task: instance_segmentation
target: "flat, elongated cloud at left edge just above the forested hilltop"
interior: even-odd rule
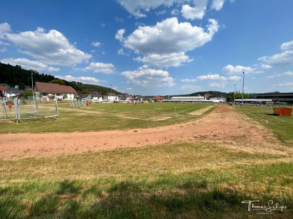
[[[38,72],[41,72],[44,70],[49,71],[49,72],[60,71],[59,68],[49,67],[48,65],[43,64],[40,61],[32,61],[27,58],[5,58],[5,59],[0,60],[0,62],[5,63],[5,64],[9,63],[10,65],[13,65],[13,66],[20,65],[22,69],[26,69],[26,70],[33,69]]]

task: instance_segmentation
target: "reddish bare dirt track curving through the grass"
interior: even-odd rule
[[[128,136],[128,137],[127,137]],[[131,138],[129,137],[131,136]],[[0,134],[0,158],[48,157],[152,146],[182,141],[209,142],[233,150],[284,154],[287,146],[255,121],[228,105],[184,124],[99,132]],[[277,145],[277,147],[276,147]]]

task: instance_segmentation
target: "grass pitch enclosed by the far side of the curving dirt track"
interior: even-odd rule
[[[182,103],[145,103],[134,105],[96,104],[88,108],[67,108],[66,103],[59,103],[59,117],[0,121],[0,133],[44,133],[101,131],[114,129],[153,128],[197,119],[189,113],[202,110],[210,104]],[[176,113],[174,113],[176,106]],[[211,111],[209,109],[208,111]]]

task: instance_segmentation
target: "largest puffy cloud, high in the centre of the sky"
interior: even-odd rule
[[[218,28],[214,19],[209,19],[204,29],[188,22],[179,23],[177,18],[167,18],[155,26],[139,26],[128,37],[123,37],[125,30],[121,29],[115,38],[127,49],[145,56],[135,60],[167,68],[192,61],[185,53],[209,42]]]

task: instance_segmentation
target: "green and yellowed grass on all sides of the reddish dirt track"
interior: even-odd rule
[[[69,109],[64,103],[59,105],[58,120],[5,121],[0,132],[152,128],[202,118],[214,109],[204,112],[208,107],[176,104],[174,113],[175,104],[94,104],[91,109]],[[196,110],[202,116],[191,113]],[[293,117],[249,105],[235,110],[251,120],[262,120],[253,122],[272,130],[288,151],[250,153],[198,141],[1,160],[0,219],[292,218]],[[248,200],[259,201],[254,206],[266,205],[267,211],[249,211],[249,204],[242,203]]]

